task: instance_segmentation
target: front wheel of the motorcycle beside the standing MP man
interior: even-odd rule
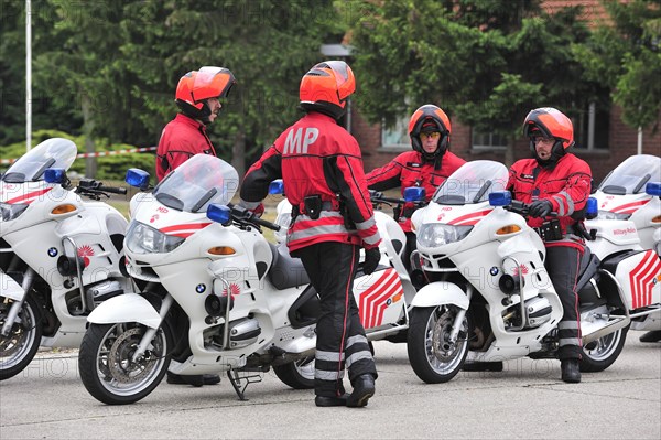
[[[93,397],[108,405],[133,404],[159,385],[170,366],[172,332],[163,322],[144,354],[133,361],[147,330],[134,322],[89,325],[80,343],[78,369]]]

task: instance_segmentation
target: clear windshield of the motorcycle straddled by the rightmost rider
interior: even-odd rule
[[[433,201],[443,205],[465,205],[489,200],[489,194],[505,191],[509,172],[499,162],[466,162],[438,186]]]

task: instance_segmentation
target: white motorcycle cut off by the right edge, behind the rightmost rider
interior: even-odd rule
[[[613,170],[593,197],[599,213],[586,222],[596,240],[588,242],[599,258],[610,247],[652,249],[661,256],[661,158],[632,155]],[[649,305],[631,315],[631,330],[661,330],[661,308]]]

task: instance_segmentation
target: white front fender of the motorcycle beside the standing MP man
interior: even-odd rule
[[[104,301],[87,316],[93,324],[139,322],[151,329],[161,325],[161,316],[152,304],[137,293],[124,293]]]

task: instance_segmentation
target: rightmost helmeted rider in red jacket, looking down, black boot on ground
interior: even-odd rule
[[[508,189],[514,198],[530,204],[528,224],[544,240],[544,266],[564,309],[557,324],[562,379],[578,383],[582,348],[575,289],[585,242],[577,224],[589,196],[592,172],[585,161],[568,152],[574,144],[574,128],[557,109],[531,110],[523,122],[523,133],[530,139],[533,158],[514,162]],[[550,216],[553,212],[557,215]],[[561,233],[552,234],[557,226]]]

